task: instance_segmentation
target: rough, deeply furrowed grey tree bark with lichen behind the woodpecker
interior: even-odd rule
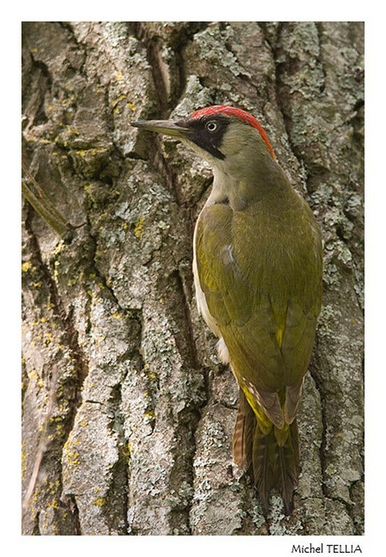
[[[23,148],[75,226],[23,205],[23,533],[363,533],[361,23],[23,25]],[[295,510],[232,464],[237,390],[198,316],[211,172],[132,119],[230,104],[262,123],[324,239]],[[40,452],[39,452],[40,451]]]

